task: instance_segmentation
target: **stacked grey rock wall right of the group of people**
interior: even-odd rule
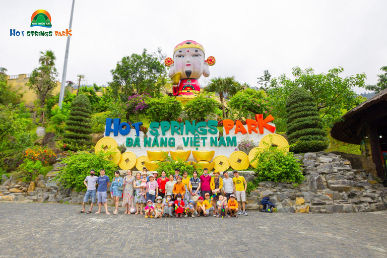
[[[387,188],[365,170],[352,169],[349,160],[334,153],[295,155],[303,162],[304,182],[261,182],[247,198],[246,209],[260,209],[269,197],[278,212],[344,213],[387,209]]]

